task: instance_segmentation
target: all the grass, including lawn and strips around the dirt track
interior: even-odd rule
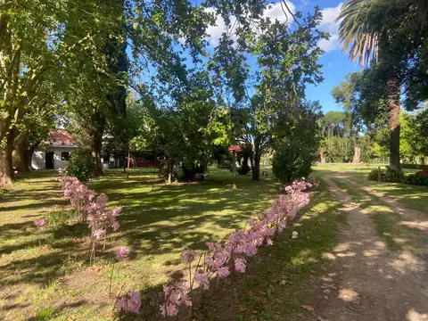
[[[341,172],[353,182],[427,212],[428,187],[370,182],[366,180],[370,169],[325,165],[317,166],[314,176]],[[280,186],[270,172],[253,182],[251,176],[234,178],[227,170],[211,169],[207,182],[165,185],[150,170],[134,170],[128,178],[108,171],[89,186],[106,193],[109,206],[123,207],[121,227],[109,238],[96,265],[89,267],[86,226],[71,218],[55,176],[54,171],[33,172],[0,193],[0,319],[112,320],[109,284],[113,251],[119,246],[130,248],[132,256],[114,265],[112,292],[141,291],[144,304],[137,319],[159,319],[157,307],[147,303],[160,299],[161,284],[180,276],[183,246],[202,249],[205,242],[243,226],[247,218],[268,208]],[[412,245],[412,235],[398,225],[391,209],[355,184],[334,181],[371,212],[379,235],[391,248]],[[293,227],[300,234],[298,240],[290,239],[290,230],[273,247],[262,249],[250,260],[249,273],[231,281],[235,292],[222,289],[211,301],[205,319],[294,320],[322,273],[323,253],[336,242],[338,222],[346,221],[340,205],[322,183]],[[49,223],[37,233],[32,222],[42,217]],[[405,238],[407,243],[398,242]]]

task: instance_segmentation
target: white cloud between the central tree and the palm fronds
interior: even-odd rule
[[[318,46],[323,49],[325,53],[340,49],[341,47],[341,42],[339,40],[339,26],[341,25],[341,21],[336,22],[341,10],[342,3],[335,7],[321,10],[323,13],[323,21],[321,21],[319,29],[330,33],[330,39],[318,41]]]

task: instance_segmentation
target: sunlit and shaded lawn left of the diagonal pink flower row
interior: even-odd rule
[[[0,194],[0,315],[6,320],[111,320],[108,288],[116,247],[130,248],[132,258],[116,264],[113,292],[122,286],[123,291],[158,287],[183,268],[183,246],[199,249],[243,226],[268,208],[279,187],[271,176],[259,182],[248,176],[237,177],[233,188],[230,172],[211,169],[208,182],[157,182],[153,189],[156,177],[150,171],[135,170],[128,179],[108,171],[89,186],[106,193],[109,206],[123,207],[121,226],[107,253],[88,268],[85,226],[57,217],[66,213],[67,202],[55,176],[33,172]],[[49,223],[37,233],[32,222],[41,217]]]

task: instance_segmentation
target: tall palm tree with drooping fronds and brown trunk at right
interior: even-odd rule
[[[391,44],[391,17],[385,12],[395,1],[348,0],[342,5],[337,18],[341,21],[340,39],[343,50],[349,52],[350,60],[362,67],[382,61]],[[397,19],[397,17],[395,17]],[[387,80],[386,100],[388,107],[388,127],[390,129],[390,168],[399,170],[399,95],[400,79],[391,68]]]

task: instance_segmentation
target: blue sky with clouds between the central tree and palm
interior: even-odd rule
[[[320,29],[328,31],[331,35],[329,40],[321,40],[318,45],[325,51],[321,56],[319,63],[322,65],[323,76],[325,80],[317,86],[309,85],[306,91],[307,98],[311,101],[319,101],[323,111],[340,111],[341,106],[334,102],[331,95],[333,86],[337,86],[345,79],[346,74],[361,70],[354,62],[350,62],[346,53],[342,51],[342,45],[339,41],[339,25],[335,22],[341,12],[342,2],[340,0],[287,0],[292,12],[300,11],[305,13],[314,12],[314,7],[318,5],[323,13],[323,21]],[[271,20],[285,21],[284,12],[281,4],[274,1],[274,4],[264,13]],[[289,17],[289,21],[292,17]],[[232,24],[234,21],[232,20]],[[220,17],[216,24],[207,29],[208,41],[211,48],[218,45],[218,38],[222,32],[226,31],[226,25]]]

